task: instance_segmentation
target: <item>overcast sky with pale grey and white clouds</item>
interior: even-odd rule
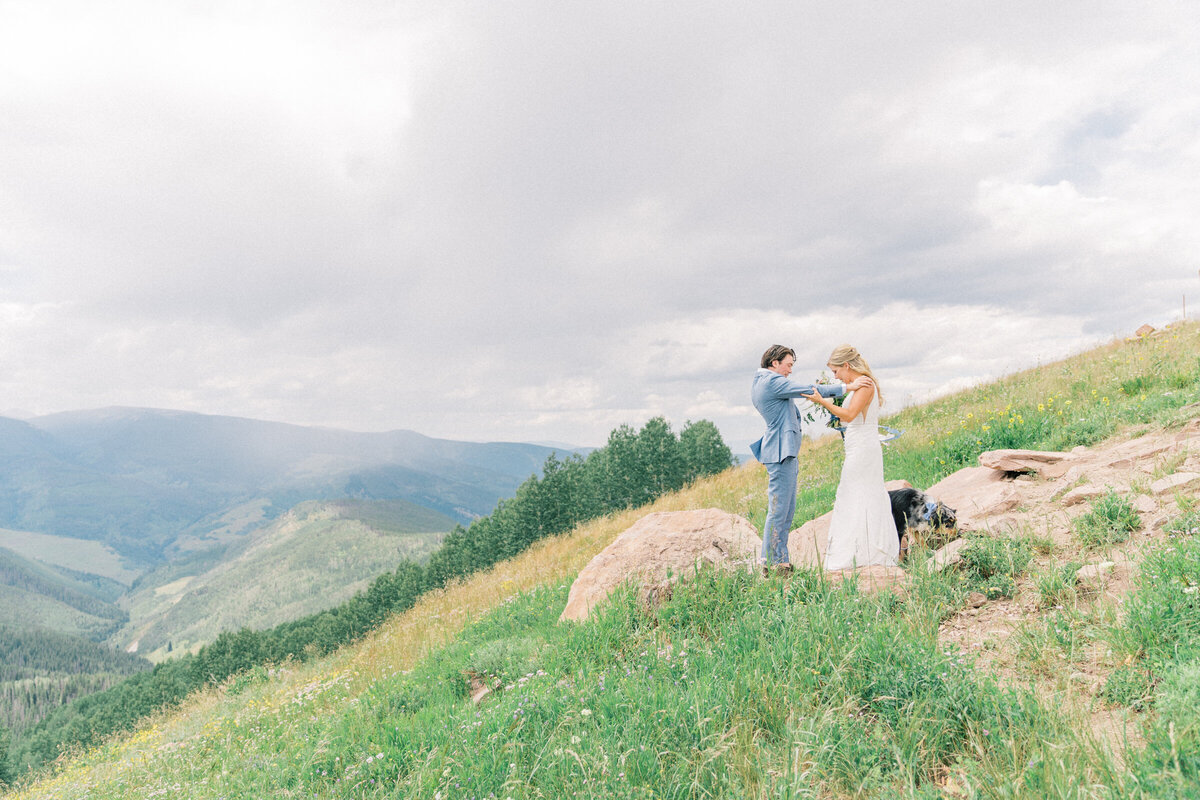
[[[1198,65],[1194,2],[0,0],[0,409],[920,402],[1200,313]]]

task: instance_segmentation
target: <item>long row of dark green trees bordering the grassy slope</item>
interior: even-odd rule
[[[620,426],[604,447],[587,457],[559,459],[551,455],[540,477],[530,476],[490,516],[467,528],[456,527],[426,566],[404,560],[336,608],[268,631],[222,633],[194,655],[160,663],[61,706],[12,742],[11,765],[36,768],[66,748],[98,744],[204,685],[223,682],[253,667],[329,654],[410,608],[431,589],[509,559],[539,539],[611,511],[643,505],[732,463],[732,453],[712,422],[689,422],[677,437],[662,417],[650,420],[641,431]]]

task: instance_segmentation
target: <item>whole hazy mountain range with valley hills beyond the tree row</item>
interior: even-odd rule
[[[142,408],[0,417],[0,621],[156,661],[268,627],[422,561],[568,449]]]

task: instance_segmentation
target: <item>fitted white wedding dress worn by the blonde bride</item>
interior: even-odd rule
[[[846,396],[850,405],[853,393]],[[826,570],[853,566],[895,566],[900,554],[892,501],[883,488],[883,446],[880,444],[878,395],[866,411],[846,422],[846,461],[829,522]]]

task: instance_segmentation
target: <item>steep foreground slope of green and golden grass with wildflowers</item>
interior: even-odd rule
[[[905,435],[888,477],[929,486],[984,450],[1172,429],[1200,416],[1198,353],[1200,326],[1180,325],[905,410],[889,420]],[[796,524],[832,506],[838,444],[805,450]],[[1195,489],[1138,552],[1146,566],[1120,599],[1069,577],[1103,546],[1012,531],[965,572],[911,570],[905,599],[804,572],[706,576],[654,610],[623,595],[592,622],[557,624],[574,576],[641,516],[720,507],[761,525],[764,485],[746,465],[540,541],[361,644],[246,673],[13,796],[1200,794]],[[1030,646],[1003,673],[938,638],[989,554],[1032,599],[1014,604],[1028,608],[1018,639]],[[1048,680],[1082,660],[1108,675],[1103,692]],[[500,688],[473,705],[469,675]],[[1129,721],[1120,746],[1097,733],[1099,711]]]

